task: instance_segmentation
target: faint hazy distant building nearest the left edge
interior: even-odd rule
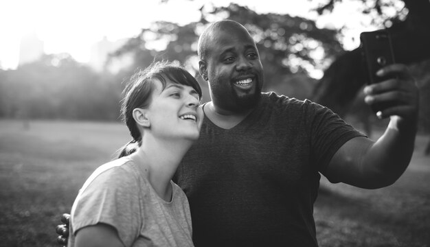
[[[43,45],[43,41],[38,38],[36,33],[23,36],[19,46],[19,66],[41,58],[44,54]]]

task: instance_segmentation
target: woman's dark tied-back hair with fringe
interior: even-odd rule
[[[132,140],[124,145],[118,158],[132,154],[142,145],[142,134],[133,118],[133,110],[135,108],[148,108],[151,103],[152,91],[154,91],[154,79],[161,82],[163,90],[166,88],[166,80],[170,80],[176,84],[192,86],[199,93],[199,97],[201,98],[202,96],[201,88],[196,78],[183,67],[172,62],[153,62],[143,71],[138,71],[132,75],[130,82],[122,92],[123,98],[121,102],[121,117],[128,130],[130,130]]]

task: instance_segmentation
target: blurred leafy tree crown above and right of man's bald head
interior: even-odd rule
[[[207,23],[210,15],[224,14],[249,30],[264,66],[264,90],[283,84],[286,75],[309,75],[315,69],[322,69],[343,51],[335,30],[320,29],[314,21],[302,17],[257,14],[234,3],[207,12],[204,10],[201,10],[201,23]]]

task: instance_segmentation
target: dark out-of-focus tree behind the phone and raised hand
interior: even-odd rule
[[[321,13],[330,12],[337,3],[347,0],[324,1],[317,10]],[[322,2],[322,1],[321,1]],[[422,95],[428,90],[429,79],[415,68],[424,69],[429,73],[427,60],[430,59],[430,1],[428,0],[361,0],[362,11],[369,14],[377,29],[385,29],[392,37],[392,45],[396,62],[409,65],[418,81]],[[341,30],[339,31],[341,32]],[[420,64],[422,63],[422,64]],[[363,103],[361,89],[367,81],[363,67],[361,47],[338,54],[330,67],[324,71],[313,92],[313,100],[328,106],[335,113],[357,115],[359,121],[367,126],[370,134],[370,120],[374,119],[367,105]],[[358,95],[358,96],[357,96]],[[358,98],[357,98],[358,97]],[[421,97],[420,119],[429,119],[428,108],[430,99]],[[429,121],[420,121],[420,128],[429,130]],[[430,145],[430,142],[429,142]]]

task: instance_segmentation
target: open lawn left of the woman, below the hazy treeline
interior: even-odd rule
[[[58,246],[61,213],[128,139],[120,124],[0,121],[0,246]]]

